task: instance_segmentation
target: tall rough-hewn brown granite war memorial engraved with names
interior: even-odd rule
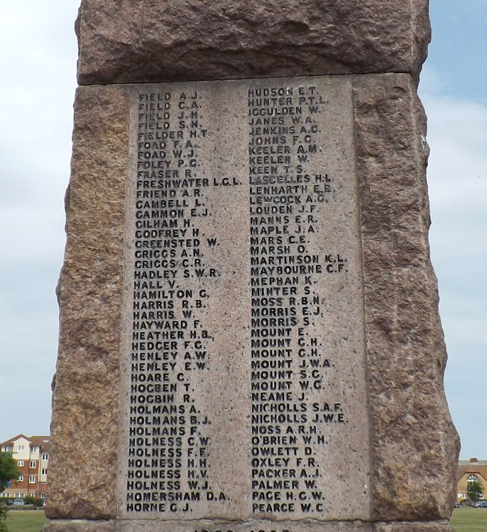
[[[82,0],[46,532],[449,532],[427,0]]]

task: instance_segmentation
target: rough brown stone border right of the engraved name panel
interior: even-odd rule
[[[373,519],[449,519],[459,438],[429,260],[425,115],[410,75],[353,79]]]

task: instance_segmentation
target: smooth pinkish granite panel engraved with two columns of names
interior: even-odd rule
[[[349,77],[131,87],[121,519],[368,519]]]

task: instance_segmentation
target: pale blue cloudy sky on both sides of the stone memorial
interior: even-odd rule
[[[0,6],[0,441],[48,433],[79,0]],[[487,459],[487,0],[431,0],[432,260],[461,458]]]

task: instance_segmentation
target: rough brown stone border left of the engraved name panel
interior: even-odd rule
[[[116,514],[127,164],[128,90],[81,87],[58,283],[60,343],[46,507],[51,519]]]

